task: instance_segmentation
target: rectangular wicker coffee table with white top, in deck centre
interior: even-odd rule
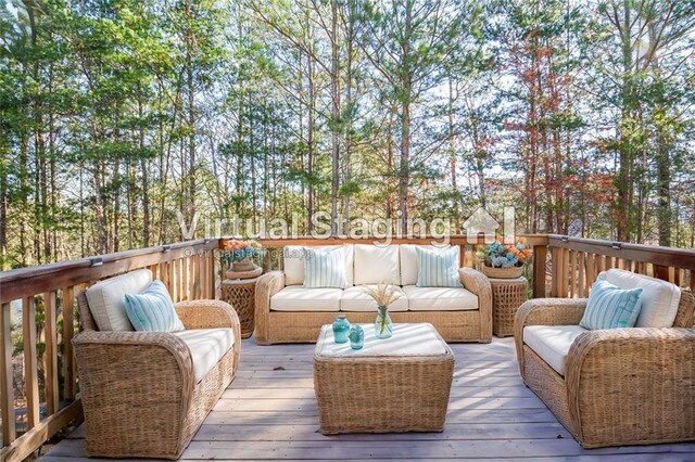
[[[390,433],[444,429],[454,355],[432,324],[394,324],[378,339],[362,324],[365,346],[333,342],[324,325],[314,354],[320,432]]]

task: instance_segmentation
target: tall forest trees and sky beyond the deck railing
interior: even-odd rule
[[[0,0],[0,269],[177,213],[695,247],[694,105],[693,0]]]

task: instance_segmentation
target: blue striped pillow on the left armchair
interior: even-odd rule
[[[126,315],[136,331],[177,332],[184,330],[174,301],[164,283],[155,280],[139,294],[126,294]]]

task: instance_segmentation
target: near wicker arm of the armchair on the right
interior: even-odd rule
[[[580,440],[654,438],[641,435],[642,427],[657,428],[664,440],[694,438],[693,358],[692,329],[581,334],[565,367],[569,412]]]

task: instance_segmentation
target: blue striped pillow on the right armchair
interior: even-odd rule
[[[619,288],[599,278],[591,288],[579,325],[590,330],[633,328],[642,308],[641,295],[642,287]]]

